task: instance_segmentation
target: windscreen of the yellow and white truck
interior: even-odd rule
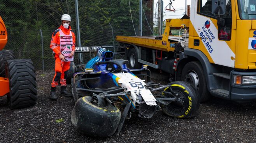
[[[238,0],[241,19],[256,19],[256,0]]]

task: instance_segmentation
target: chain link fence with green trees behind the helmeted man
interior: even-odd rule
[[[117,35],[139,35],[139,2],[79,0],[81,46],[114,46],[115,49],[109,50],[117,51]],[[142,0],[142,5],[142,34],[153,35],[154,2]],[[42,70],[43,66],[44,70],[53,70],[54,58],[49,45],[52,33],[61,25],[63,14],[71,16],[70,26],[77,34],[75,0],[0,0],[0,16],[8,34],[5,49],[13,50],[17,59],[32,59],[36,70]],[[87,63],[94,53],[85,53],[82,57],[83,63]],[[77,61],[75,54],[75,63]]]

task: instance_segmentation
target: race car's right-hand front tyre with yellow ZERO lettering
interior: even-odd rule
[[[177,102],[171,102],[167,106],[161,104],[163,113],[168,116],[179,118],[190,118],[196,116],[196,112],[200,105],[200,99],[195,87],[186,82],[172,82],[170,85],[172,85],[172,90],[179,94],[179,97],[184,97],[184,104],[179,105]],[[168,90],[170,90],[169,87],[165,89],[165,91]]]

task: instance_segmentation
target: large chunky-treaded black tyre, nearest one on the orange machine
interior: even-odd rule
[[[7,95],[11,109],[29,107],[37,101],[37,82],[30,59],[8,60],[6,75],[10,92]]]

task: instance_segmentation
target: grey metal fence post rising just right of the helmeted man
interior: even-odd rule
[[[79,14],[78,14],[78,2],[75,0],[75,18],[76,18],[76,27],[77,27],[77,41],[78,47],[81,47],[81,38],[80,38],[80,27],[79,27]],[[79,53],[79,64],[83,63],[82,53]]]

